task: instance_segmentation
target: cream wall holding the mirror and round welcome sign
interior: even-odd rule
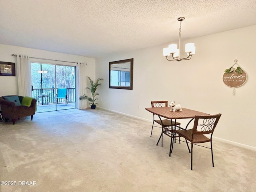
[[[104,78],[98,89],[99,106],[152,120],[152,114],[145,110],[150,101],[179,101],[184,108],[222,113],[215,137],[256,147],[255,34],[256,26],[249,26],[182,40],[182,48],[194,42],[196,54],[181,62],[167,61],[162,55],[162,49],[170,43],[98,58],[96,78]],[[134,58],[133,90],[108,88],[109,62],[129,58]],[[232,88],[223,83],[222,76],[236,58],[247,72],[247,81],[232,95]],[[187,121],[179,122],[184,125]]]

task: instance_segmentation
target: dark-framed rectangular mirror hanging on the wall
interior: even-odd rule
[[[109,88],[132,90],[133,58],[109,62]]]

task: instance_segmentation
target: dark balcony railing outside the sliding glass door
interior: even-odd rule
[[[56,89],[58,92],[58,89]],[[36,98],[38,100],[38,96],[41,96],[42,93],[44,95],[48,95],[48,104],[54,104],[56,99],[56,92],[54,88],[51,89],[32,89],[32,97]],[[67,88],[67,98],[68,103],[69,102],[75,102],[76,101],[76,92],[75,88]],[[65,103],[65,99],[58,99],[59,103]],[[39,102],[37,102],[39,105]]]

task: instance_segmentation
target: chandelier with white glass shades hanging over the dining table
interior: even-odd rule
[[[177,49],[176,44],[170,44],[168,47],[163,49],[164,56],[168,61],[181,61],[181,60],[190,60],[192,55],[196,53],[196,47],[194,43],[187,43],[185,45],[185,52],[187,53],[187,57],[180,58],[180,37],[181,37],[181,22],[184,21],[184,17],[179,17],[178,21],[180,21],[180,32],[179,32],[179,47]],[[168,56],[172,54],[172,59],[168,59]]]

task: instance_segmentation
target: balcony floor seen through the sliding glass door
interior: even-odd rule
[[[59,103],[57,104],[57,110],[64,110],[64,109],[74,109],[76,108],[76,103],[75,102],[70,102],[67,105],[65,103]],[[44,105],[38,105],[36,113],[41,113],[41,112],[47,112],[47,111],[55,111],[56,110],[56,105],[55,104],[44,104]]]

